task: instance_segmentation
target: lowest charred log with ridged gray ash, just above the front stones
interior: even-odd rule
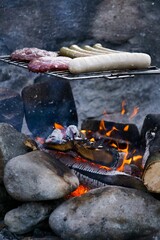
[[[74,170],[81,184],[88,188],[116,185],[146,191],[142,180],[124,172],[115,171],[113,167],[105,167],[79,157],[76,153],[49,151],[63,164]]]

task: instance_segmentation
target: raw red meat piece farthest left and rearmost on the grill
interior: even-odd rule
[[[52,56],[56,57],[58,54],[52,51],[46,51],[39,48],[23,48],[15,50],[11,54],[11,59],[16,61],[31,61],[34,58],[45,57],[45,56]]]

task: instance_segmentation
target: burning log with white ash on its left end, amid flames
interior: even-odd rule
[[[116,149],[105,147],[101,142],[81,138],[75,125],[70,125],[66,129],[62,127],[54,129],[45,140],[45,147],[59,151],[75,150],[83,158],[108,167],[116,166],[119,158]]]

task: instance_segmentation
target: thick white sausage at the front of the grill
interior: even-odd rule
[[[145,53],[112,53],[80,57],[69,63],[71,73],[85,73],[106,70],[144,69],[151,64],[151,57]]]

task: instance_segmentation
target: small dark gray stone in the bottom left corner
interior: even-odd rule
[[[29,202],[7,212],[4,223],[8,230],[17,233],[27,233],[38,223],[49,217],[55,208],[55,203]]]

